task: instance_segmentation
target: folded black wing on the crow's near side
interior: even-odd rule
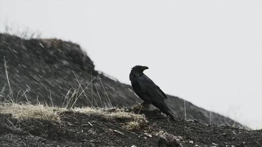
[[[147,93],[152,98],[167,99],[164,92],[146,75],[138,77],[137,82],[143,92]]]

